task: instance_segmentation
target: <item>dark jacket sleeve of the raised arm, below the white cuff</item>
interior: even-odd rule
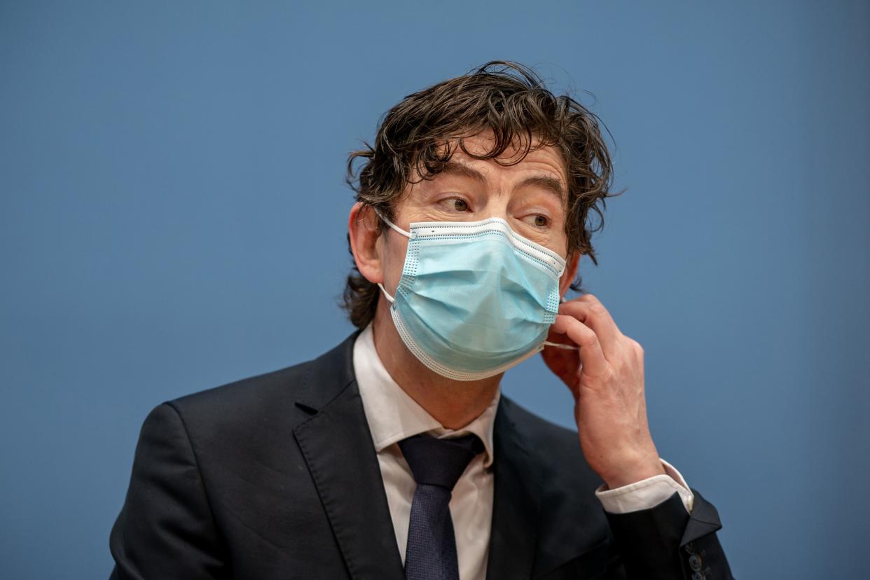
[[[716,537],[722,527],[719,513],[697,490],[692,492],[691,514],[676,492],[649,510],[606,512],[623,569],[614,577],[733,580]]]

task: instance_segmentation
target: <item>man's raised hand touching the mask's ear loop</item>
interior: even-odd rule
[[[548,341],[578,350],[545,347],[544,362],[574,395],[580,447],[610,489],[664,474],[644,397],[644,350],[626,337],[591,294],[559,306]]]

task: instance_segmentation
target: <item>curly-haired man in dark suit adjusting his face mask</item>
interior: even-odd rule
[[[643,350],[564,298],[610,195],[596,119],[504,62],[398,103],[348,165],[359,330],[152,410],[112,577],[730,578],[653,444]],[[539,351],[577,432],[500,393]]]

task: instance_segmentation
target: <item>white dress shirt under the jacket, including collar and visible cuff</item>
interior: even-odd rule
[[[462,580],[485,580],[495,489],[492,462],[497,460],[492,454],[492,426],[501,390],[496,391],[489,406],[471,423],[458,430],[445,428],[408,396],[387,372],[375,350],[371,324],[353,345],[353,370],[371,440],[378,453],[378,465],[402,563],[405,563],[411,502],[417,484],[398,442],[418,433],[438,438],[473,433],[484,443],[484,453],[472,459],[453,488],[450,513],[456,535],[459,577]],[[649,477],[614,490],[606,490],[602,485],[595,495],[605,510],[626,513],[652,508],[677,491],[686,510],[691,512],[693,495],[686,481],[670,463],[662,460],[662,464],[669,475]]]

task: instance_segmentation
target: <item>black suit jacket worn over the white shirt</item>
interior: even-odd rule
[[[352,364],[314,361],[163,403],[145,419],[111,578],[402,580]],[[606,514],[577,433],[501,397],[487,579],[730,578],[695,491]],[[695,570],[693,570],[695,569]]]

